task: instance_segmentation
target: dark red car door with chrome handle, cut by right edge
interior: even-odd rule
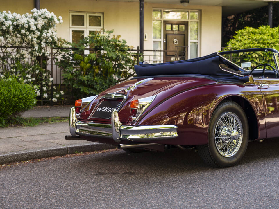
[[[278,71],[278,54],[274,53],[275,69]],[[277,74],[278,77],[278,74]],[[262,91],[267,138],[279,136],[279,78],[254,78]]]

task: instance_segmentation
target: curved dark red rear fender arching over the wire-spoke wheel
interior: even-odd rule
[[[239,103],[244,110],[245,104],[250,105],[248,108],[252,110],[249,109],[251,110],[249,113],[254,113],[254,118],[251,117],[251,120],[256,118],[257,121],[251,125],[256,125],[258,130],[262,130],[258,132],[262,138],[265,137],[265,124],[262,97],[258,90],[255,86],[235,84],[208,84],[189,89],[155,105],[145,113],[137,125],[173,124],[178,126],[178,137],[172,140],[171,144],[207,144],[210,118],[220,102],[229,99]],[[249,94],[251,91],[254,94]],[[255,112],[259,112],[260,115]]]

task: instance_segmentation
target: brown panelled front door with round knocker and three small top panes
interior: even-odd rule
[[[175,52],[164,52],[164,62],[187,59],[188,46],[188,22],[183,21],[164,21],[164,50]]]

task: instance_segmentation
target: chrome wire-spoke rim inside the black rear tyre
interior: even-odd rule
[[[215,127],[215,145],[224,157],[235,155],[241,146],[243,128],[238,116],[232,112],[223,114]]]

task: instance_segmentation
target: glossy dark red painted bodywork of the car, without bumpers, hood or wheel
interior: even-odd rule
[[[278,56],[274,52],[274,56]],[[276,68],[278,71],[278,64]],[[81,110],[77,120],[85,123],[112,124],[111,118],[90,118],[100,99],[105,95],[119,92],[126,95],[125,102],[118,110],[119,121],[127,126],[177,126],[177,137],[164,140],[144,140],[144,143],[166,145],[208,144],[208,127],[214,111],[225,101],[232,101],[244,110],[249,126],[249,140],[263,140],[279,136],[279,78],[253,78],[248,82],[223,81],[203,75],[156,75],[142,76],[128,80],[100,93]],[[129,87],[141,80],[150,80]],[[152,78],[152,79],[151,79]],[[266,84],[260,87],[261,84]],[[129,89],[123,91],[124,89]],[[130,121],[130,103],[133,100],[156,95],[151,104],[136,121]],[[78,134],[80,138],[101,143],[135,144],[137,140],[115,141],[112,138]],[[143,141],[138,141],[142,143]]]

